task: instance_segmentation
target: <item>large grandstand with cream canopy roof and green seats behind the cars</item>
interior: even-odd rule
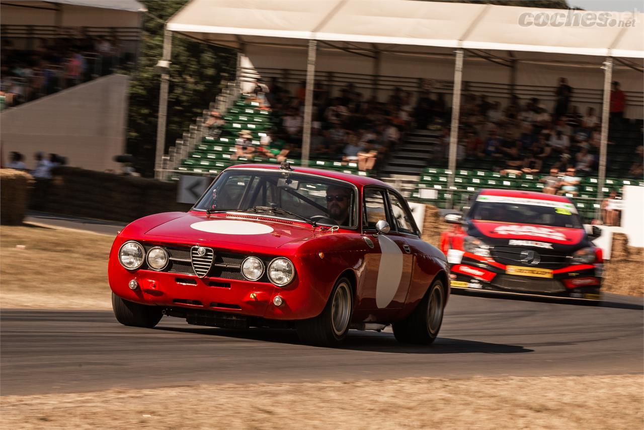
[[[484,187],[539,190],[540,179],[549,168],[577,168],[582,171],[582,182],[569,194],[582,215],[592,218],[600,209],[603,193],[642,184],[641,167],[633,163],[641,150],[643,115],[640,60],[644,50],[636,30],[580,26],[527,29],[516,26],[516,20],[528,9],[506,6],[376,0],[365,12],[357,0],[338,2],[335,8],[331,3],[312,3],[307,10],[261,2],[223,9],[193,0],[171,19],[166,27],[169,32],[240,50],[240,64],[245,62],[252,73],[238,70],[236,81],[230,83],[236,90],[229,94],[229,102],[211,106],[211,110],[225,112],[220,134],[207,135],[204,115],[171,149],[164,159],[164,170],[176,178],[180,173],[216,174],[236,162],[277,162],[277,158],[267,160],[265,156],[234,156],[240,131],[249,130],[252,144],[259,148],[263,134],[285,125],[286,115],[298,115],[285,113],[280,106],[261,113],[259,106],[240,97],[242,92],[251,93],[261,77],[262,84],[276,79],[279,86],[287,88],[295,101],[289,107],[299,111],[303,119],[303,130],[290,133],[296,138],[290,142],[298,150],[301,146],[301,158],[298,154],[289,161],[355,172],[352,157],[342,157],[341,148],[334,147],[335,153],[316,154],[308,127],[314,128],[317,122],[323,133],[335,133],[337,127],[354,135],[361,128],[362,134],[381,133],[380,125],[393,125],[399,129],[399,137],[384,150],[375,170],[358,173],[375,174],[411,199],[442,208],[463,206],[469,195]],[[261,14],[249,14],[256,10]],[[408,28],[411,17],[417,26]],[[375,22],[380,24],[370,25]],[[551,37],[553,31],[558,37]],[[543,46],[544,40],[551,44]],[[563,77],[574,88],[572,98],[567,96],[564,104],[560,103],[559,87],[554,86]],[[609,127],[607,106],[611,104],[613,79],[621,81],[627,103],[614,115],[616,121],[611,114]],[[352,97],[355,93],[357,99]],[[406,115],[401,115],[401,105],[409,107],[408,99],[401,101],[401,93],[405,97],[411,94],[414,112],[406,110]],[[471,112],[468,97],[472,95],[482,100],[488,97],[489,104],[496,106],[495,115],[486,110]],[[379,109],[375,116],[386,120],[372,121],[366,132],[353,121],[339,121],[339,126],[338,121],[327,121],[325,112],[337,97],[343,99],[339,106],[344,112],[352,110],[350,104],[369,106],[373,102]],[[533,106],[526,107],[527,101]],[[569,107],[575,109],[571,112]],[[417,115],[419,108],[425,110],[424,119]],[[580,125],[582,117],[587,119],[582,112],[589,108],[598,116],[591,126]],[[527,113],[529,119],[519,117],[520,113]],[[593,117],[592,113],[587,115]],[[532,140],[516,135],[525,126],[531,129]],[[566,127],[572,130],[562,132]],[[457,130],[459,136],[473,130],[481,145],[497,139],[500,143],[494,144],[499,148],[463,156]],[[494,134],[495,130],[500,133]],[[609,134],[605,134],[607,130]],[[580,137],[580,132],[585,136]],[[345,144],[355,146],[348,140]],[[533,146],[547,147],[533,163],[533,171],[507,173],[511,166],[520,170],[522,151],[529,152]]]

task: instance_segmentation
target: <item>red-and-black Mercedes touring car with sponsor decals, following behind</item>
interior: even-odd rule
[[[566,197],[528,191],[482,190],[465,218],[441,237],[451,287],[510,294],[600,300],[601,248]]]

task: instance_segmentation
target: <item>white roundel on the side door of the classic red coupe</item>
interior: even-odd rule
[[[378,235],[378,242],[382,255],[375,284],[375,306],[386,308],[395,297],[403,277],[403,251],[385,235]]]

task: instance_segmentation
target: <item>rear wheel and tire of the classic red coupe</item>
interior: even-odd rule
[[[435,280],[409,317],[393,323],[393,335],[404,344],[431,344],[439,335],[444,309],[445,288]]]

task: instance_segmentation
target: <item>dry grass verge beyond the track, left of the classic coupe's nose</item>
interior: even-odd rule
[[[109,309],[108,257],[113,240],[81,231],[3,226],[0,306]]]

